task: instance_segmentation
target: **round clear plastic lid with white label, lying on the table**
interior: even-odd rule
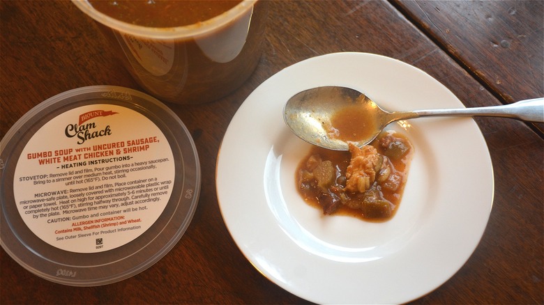
[[[33,274],[70,286],[156,263],[197,208],[200,166],[181,120],[129,88],[66,91],[0,142],[0,243]]]

